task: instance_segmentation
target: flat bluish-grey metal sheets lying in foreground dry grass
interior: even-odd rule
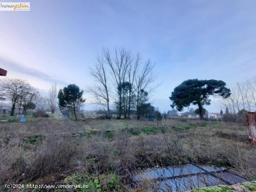
[[[151,168],[135,173],[134,183],[149,181],[157,192],[187,191],[198,187],[233,185],[246,180],[218,166],[184,164],[177,167]]]

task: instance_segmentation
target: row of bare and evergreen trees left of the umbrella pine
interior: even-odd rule
[[[107,118],[112,118],[111,105],[117,111],[117,119],[130,118],[135,114],[137,119],[141,115],[153,114],[154,107],[148,103],[150,93],[158,86],[153,86],[156,75],[153,73],[155,64],[151,60],[142,60],[141,54],[132,54],[124,48],[116,48],[113,53],[107,48],[96,57],[96,64],[88,72],[94,79],[94,86],[87,86],[87,91],[94,97],[94,104],[101,107]],[[27,80],[2,79],[1,94],[11,101],[11,115],[16,108],[19,113],[26,114],[27,109],[35,109],[36,105],[47,103],[54,113],[59,106],[61,113],[74,114],[83,106],[83,90],[75,84],[70,84],[57,90],[53,84],[49,96],[44,98],[38,90]]]

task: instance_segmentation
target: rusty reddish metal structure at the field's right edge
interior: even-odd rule
[[[246,113],[246,124],[249,138],[256,145],[256,112]]]

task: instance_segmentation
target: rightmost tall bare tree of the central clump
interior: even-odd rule
[[[156,75],[153,73],[153,68],[155,64],[152,64],[150,60],[147,60],[141,71],[137,72],[135,76],[135,93],[136,93],[136,111],[137,119],[140,119],[140,103],[141,103],[141,91],[147,90],[147,93],[152,92],[158,85],[150,87],[155,81]]]

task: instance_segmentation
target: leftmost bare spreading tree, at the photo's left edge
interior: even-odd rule
[[[15,106],[18,103],[19,98],[22,93],[24,93],[24,88],[27,86],[27,81],[22,79],[3,79],[1,80],[0,89],[2,94],[11,101],[11,116],[14,115]]]

